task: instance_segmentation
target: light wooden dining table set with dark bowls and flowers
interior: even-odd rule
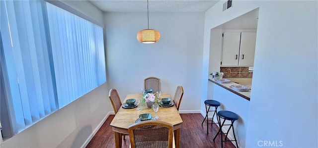
[[[171,98],[169,94],[162,93],[161,98]],[[126,102],[127,99],[141,99],[142,93],[140,94],[130,94],[127,95],[123,102]],[[172,98],[171,98],[172,99]],[[172,100],[171,100],[172,101]],[[124,103],[123,103],[124,104]],[[141,106],[142,103],[139,104]],[[136,107],[137,108],[137,107]],[[114,119],[110,123],[113,131],[115,132],[115,146],[116,148],[122,147],[122,134],[128,133],[128,127],[136,122],[140,114],[151,113],[152,116],[159,116],[157,121],[167,122],[173,125],[174,138],[175,138],[175,148],[180,146],[180,128],[183,123],[181,116],[176,109],[175,105],[171,107],[159,107],[157,114],[151,108],[148,108],[145,104],[142,109],[136,110],[136,108],[126,109],[120,108],[116,113]]]

